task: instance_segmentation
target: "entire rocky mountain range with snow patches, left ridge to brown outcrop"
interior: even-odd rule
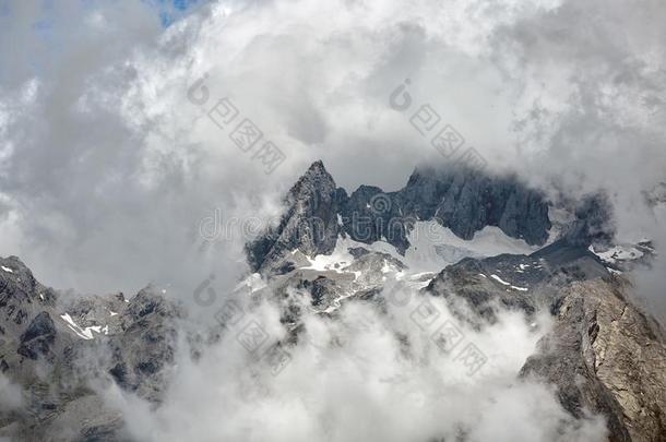
[[[513,178],[471,174],[417,170],[397,192],[361,187],[348,195],[314,163],[286,195],[280,225],[247,246],[263,275],[250,275],[237,295],[280,306],[285,348],[302,344],[304,306],[295,297],[335,320],[346,302],[385,314],[391,292],[414,291],[445,300],[478,330],[502,311],[527,322],[548,312],[555,326],[516,382],[552,385],[573,418],[603,416],[608,441],[664,440],[666,339],[630,301],[621,273],[635,256],[596,249],[613,246],[607,201],[579,203],[546,242],[554,223],[539,192]],[[431,235],[417,237],[424,226]],[[645,252],[638,258],[650,258],[652,244],[637,247]],[[97,393],[99,382],[159,407],[185,308],[150,287],[130,299],[68,300],[17,258],[0,265],[0,381],[22,392],[20,405],[0,409],[0,437],[133,440],[122,413]],[[210,332],[215,341],[217,331]]]

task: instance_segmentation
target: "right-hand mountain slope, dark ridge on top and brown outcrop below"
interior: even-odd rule
[[[550,311],[556,326],[520,375],[555,384],[574,417],[603,415],[609,441],[664,440],[664,333],[627,300],[630,287],[586,249],[561,241],[531,256],[463,260],[426,290],[461,315],[472,311],[476,326],[493,322],[498,308],[527,316]]]

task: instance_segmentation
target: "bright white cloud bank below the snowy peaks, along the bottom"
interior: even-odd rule
[[[442,299],[428,298],[440,318],[425,330],[408,318],[426,299],[417,295],[406,307],[389,304],[388,315],[352,302],[331,320],[302,306],[306,331],[277,375],[236,341],[239,323],[198,362],[181,355],[158,409],[148,411],[117,390],[106,397],[124,410],[132,435],[145,441],[604,440],[603,419],[576,421],[550,387],[515,378],[548,331],[547,316],[531,327],[520,314],[502,313],[496,325],[474,331]],[[284,336],[273,307],[263,303],[241,322],[250,316],[273,339]],[[430,337],[444,321],[463,333],[450,354]],[[473,375],[459,358],[468,344],[488,358]]]

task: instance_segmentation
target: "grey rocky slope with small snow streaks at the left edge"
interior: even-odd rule
[[[0,439],[129,441],[122,416],[91,382],[115,381],[157,403],[168,385],[180,311],[151,289],[131,301],[121,294],[66,301],[17,258],[0,264],[0,371],[25,403],[0,407]],[[122,382],[114,372],[120,365]]]

